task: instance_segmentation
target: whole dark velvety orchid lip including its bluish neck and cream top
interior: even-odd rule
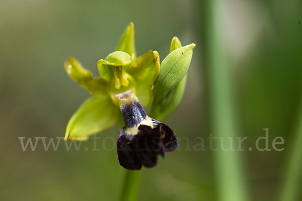
[[[120,109],[126,126],[117,137],[119,163],[131,170],[153,167],[158,155],[178,148],[177,137],[169,126],[148,117],[135,96],[126,95],[123,101]]]

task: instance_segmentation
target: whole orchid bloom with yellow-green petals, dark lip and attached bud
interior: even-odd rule
[[[182,47],[174,37],[162,63],[159,53],[152,50],[136,58],[134,25],[130,23],[116,51],[98,61],[100,77],[93,78],[91,71],[69,57],[64,62],[67,74],[93,96],[72,115],[64,140],[87,140],[119,125],[120,165],[126,169],[155,166],[158,155],[178,147],[173,130],[159,121],[180,104],[194,47],[194,43]],[[143,107],[151,107],[149,116]]]

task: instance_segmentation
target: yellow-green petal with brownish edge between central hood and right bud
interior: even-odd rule
[[[149,50],[146,54],[135,59],[133,64],[125,70],[136,81],[136,95],[144,107],[148,107],[153,100],[153,84],[160,73],[160,56],[157,51]]]

